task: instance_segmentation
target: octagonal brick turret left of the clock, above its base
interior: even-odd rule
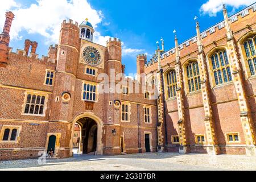
[[[61,98],[64,93],[69,95],[70,100],[60,102],[52,100],[52,107],[57,111],[51,113],[52,121],[72,121],[73,103],[75,99],[75,83],[77,64],[79,62],[79,26],[72,20],[64,20],[61,24],[59,46],[49,47],[48,55],[54,59],[57,49],[57,68],[53,98]]]

